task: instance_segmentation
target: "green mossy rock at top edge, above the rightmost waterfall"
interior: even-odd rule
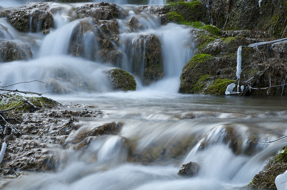
[[[170,3],[163,8],[169,22],[190,25],[195,21],[206,21],[205,3],[200,1]]]

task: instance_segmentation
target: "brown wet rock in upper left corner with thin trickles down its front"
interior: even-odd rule
[[[7,21],[20,32],[49,33],[54,26],[54,20],[48,9],[47,3],[28,3],[14,9],[7,17]]]

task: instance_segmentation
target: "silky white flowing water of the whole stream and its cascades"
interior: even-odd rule
[[[3,7],[21,3],[0,1]],[[150,4],[164,2],[150,1]],[[133,5],[117,5],[129,13],[118,21],[120,45],[117,48],[126,57],[125,70],[133,71],[131,49],[136,39],[153,34],[162,44],[165,77],[146,87],[141,84],[141,74],[135,74],[136,91],[113,92],[104,74],[112,66],[91,57],[91,50],[98,50],[94,33],[83,36],[82,58],[68,53],[74,29],[80,22],[92,24],[87,18],[71,19],[73,7],[78,5],[50,3],[59,11],[54,13],[55,28],[47,35],[19,33],[5,18],[0,19],[1,37],[26,43],[33,53],[31,60],[0,63],[1,85],[56,81],[66,92],[73,93],[46,96],[63,104],[85,104],[103,112],[102,117],[79,118],[80,127],[116,122],[119,133],[95,138],[80,150],[49,145],[42,139],[41,143],[46,142],[57,157],[55,170],[5,179],[0,181],[1,189],[247,189],[245,186],[266,161],[286,145],[286,140],[257,143],[286,135],[285,97],[179,94],[181,70],[195,53],[194,36],[181,25],[161,26],[156,15],[139,12]],[[137,32],[132,32],[126,24],[132,16],[142,23],[142,29]],[[122,62],[119,67],[123,68]],[[75,85],[79,83],[89,85]],[[19,84],[13,88],[51,91],[42,83]],[[177,175],[181,165],[189,161],[199,163],[198,175],[192,178]]]

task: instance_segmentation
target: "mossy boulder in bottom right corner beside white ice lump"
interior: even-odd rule
[[[282,151],[271,161],[269,161],[266,169],[256,174],[252,181],[249,183],[249,187],[252,188],[264,188],[264,189],[276,189],[275,178],[284,173],[287,170],[287,146],[282,148]]]

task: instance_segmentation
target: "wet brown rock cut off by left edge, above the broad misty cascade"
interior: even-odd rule
[[[0,39],[0,62],[28,60],[32,57],[29,45]]]

